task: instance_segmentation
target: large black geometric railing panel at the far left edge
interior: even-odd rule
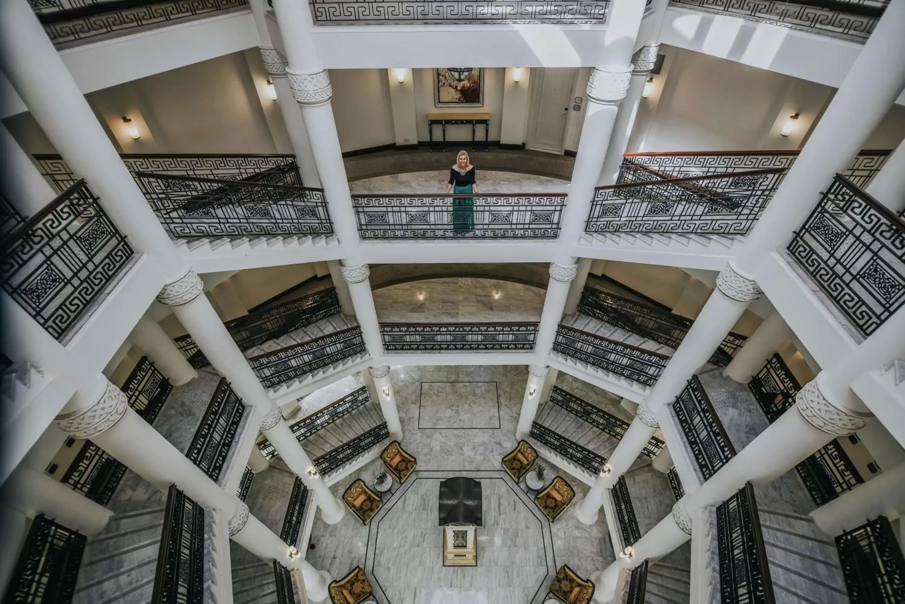
[[[132,248],[80,180],[0,243],[0,284],[57,340],[129,264]]]

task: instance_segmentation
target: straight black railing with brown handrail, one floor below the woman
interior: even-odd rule
[[[534,350],[538,323],[381,323],[384,350]]]

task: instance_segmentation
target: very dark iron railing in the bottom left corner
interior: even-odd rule
[[[38,514],[9,578],[3,604],[69,604],[86,538]],[[6,544],[6,547],[13,543]]]

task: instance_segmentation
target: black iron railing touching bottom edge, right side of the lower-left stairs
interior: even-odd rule
[[[172,484],[151,604],[203,604],[204,582],[205,508]]]

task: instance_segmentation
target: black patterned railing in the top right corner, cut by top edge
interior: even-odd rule
[[[871,37],[889,0],[872,3],[814,2],[807,5],[781,0],[672,0],[670,4],[694,7],[708,13],[736,14],[762,23],[781,23],[805,32],[863,43]]]

